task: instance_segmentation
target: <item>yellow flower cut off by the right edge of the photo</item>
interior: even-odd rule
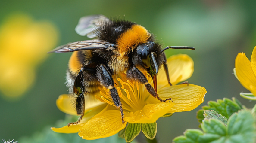
[[[240,93],[246,99],[256,100],[256,46],[252,51],[251,61],[245,53],[238,53],[235,60],[234,74],[243,87],[251,93]]]

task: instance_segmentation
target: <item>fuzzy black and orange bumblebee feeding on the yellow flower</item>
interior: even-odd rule
[[[114,86],[112,76],[125,73],[129,81],[144,84],[148,93],[161,102],[157,94],[157,74],[164,67],[170,84],[167,59],[164,51],[172,49],[191,49],[194,47],[166,47],[156,42],[154,35],[143,26],[121,19],[109,19],[103,15],[82,17],[75,28],[77,34],[95,38],[93,40],[78,41],[59,46],[48,53],[73,52],[67,70],[67,87],[69,93],[75,95],[76,112],[84,115],[85,96],[98,91],[98,86],[109,89],[109,95],[116,108],[120,108],[123,120],[122,103]],[[147,72],[152,77],[154,88],[148,83],[143,74]],[[88,94],[88,96],[90,96]]]

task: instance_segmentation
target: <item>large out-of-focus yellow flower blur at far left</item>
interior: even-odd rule
[[[58,41],[49,21],[35,22],[27,14],[9,16],[0,26],[0,90],[17,99],[33,84],[36,65]]]

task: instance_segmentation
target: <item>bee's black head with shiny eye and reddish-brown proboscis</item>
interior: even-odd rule
[[[133,64],[136,67],[145,69],[148,74],[152,77],[154,88],[157,91],[157,74],[158,69],[161,68],[164,55],[161,53],[161,45],[148,42],[139,44],[136,53],[133,55]]]

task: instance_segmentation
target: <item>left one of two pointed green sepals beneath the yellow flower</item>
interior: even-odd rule
[[[124,138],[126,140],[126,142],[132,142],[134,140],[134,138],[139,135],[141,131],[141,124],[131,124],[128,123],[128,125],[126,126],[126,130],[124,133]]]

